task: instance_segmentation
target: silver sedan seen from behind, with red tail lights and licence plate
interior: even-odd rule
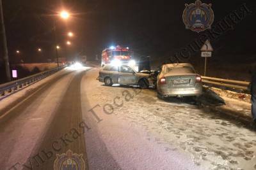
[[[157,96],[183,97],[202,94],[201,76],[189,63],[164,64],[157,76]]]

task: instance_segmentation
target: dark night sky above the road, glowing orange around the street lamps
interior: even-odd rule
[[[153,59],[168,57],[198,37],[196,32],[186,30],[182,22],[184,4],[194,2],[3,0],[10,60],[42,62],[54,58],[52,20],[58,18],[54,14],[61,6],[74,15],[68,22],[57,19],[58,41],[63,43],[67,39],[67,31],[76,34],[74,39],[70,39],[74,42],[72,47],[61,48],[61,52],[70,56],[84,52],[88,57],[94,57],[95,54],[100,55],[106,46],[124,45],[131,47],[138,56],[150,55]],[[214,22],[239,9],[243,3],[253,11],[252,15],[235,25],[234,31],[228,31],[213,42],[214,59],[227,61],[234,55],[237,60],[239,56],[256,57],[255,1],[202,2],[212,3]],[[39,46],[44,50],[42,55],[36,52]],[[15,54],[17,49],[21,51],[19,56]]]

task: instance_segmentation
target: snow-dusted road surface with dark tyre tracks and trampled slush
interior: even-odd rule
[[[83,169],[256,169],[250,106],[227,101],[232,115],[207,95],[163,101],[98,74],[69,67],[1,101],[0,169],[54,169],[68,154]]]

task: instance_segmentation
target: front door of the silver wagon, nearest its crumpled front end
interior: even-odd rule
[[[128,66],[120,66],[118,74],[118,83],[123,85],[136,84],[137,76],[135,72]]]

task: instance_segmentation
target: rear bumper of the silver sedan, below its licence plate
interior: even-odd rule
[[[167,85],[158,85],[157,92],[164,97],[172,96],[200,96],[202,94],[202,85],[195,87],[168,87]]]

